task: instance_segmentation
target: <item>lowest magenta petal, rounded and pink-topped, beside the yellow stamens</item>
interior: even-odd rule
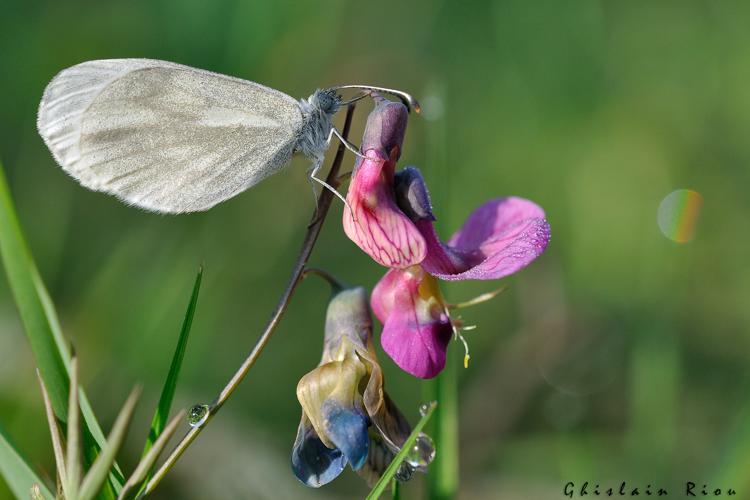
[[[383,350],[404,371],[432,378],[445,367],[452,326],[437,283],[420,267],[391,269],[372,292]]]

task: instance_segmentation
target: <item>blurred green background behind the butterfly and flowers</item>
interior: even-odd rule
[[[195,271],[204,286],[176,405],[208,402],[287,279],[313,203],[306,161],[206,213],[160,216],[87,191],[36,133],[55,73],[149,57],[293,96],[371,83],[421,99],[402,165],[418,165],[448,236],[482,201],[547,211],[552,242],[498,299],[463,312],[462,498],[564,498],[585,480],[734,487],[750,498],[750,4],[3,0],[0,158],[82,381],[105,429],[144,384],[121,462],[132,466]],[[358,142],[369,105],[359,107]],[[351,166],[351,155],[346,165]],[[348,168],[348,167],[347,167]],[[695,238],[656,223],[702,194]],[[383,269],[334,209],[312,258],[371,288]],[[446,286],[460,301],[494,283]],[[288,460],[298,379],[320,356],[328,291],[305,282],[258,364],[156,498],[358,498],[351,471],[314,491]],[[449,362],[461,363],[453,345]],[[381,353],[382,354],[382,353]],[[381,355],[414,421],[423,384]],[[53,457],[34,364],[0,280],[0,425],[37,468]],[[440,451],[438,450],[438,453]],[[409,498],[422,487],[416,478]],[[607,486],[607,487],[608,487]],[[0,480],[0,498],[10,493]]]

